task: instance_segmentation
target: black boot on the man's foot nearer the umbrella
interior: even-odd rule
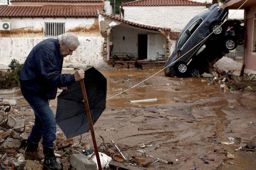
[[[62,170],[57,163],[53,148],[44,147],[44,168],[43,170]]]

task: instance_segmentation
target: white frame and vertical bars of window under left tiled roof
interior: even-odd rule
[[[51,27],[50,24],[54,24],[55,29],[50,28]],[[57,32],[56,32],[57,25],[58,25],[58,27],[63,25],[63,28],[59,29],[60,34],[57,34]],[[46,27],[48,27],[48,28],[46,28]],[[50,29],[48,31],[48,34],[47,34],[47,29]],[[55,31],[55,33],[52,33],[51,31]],[[66,23],[64,23],[64,22],[44,22],[44,37],[58,37],[58,35],[64,34],[65,32],[66,32]],[[52,34],[49,34],[49,33],[52,33]]]

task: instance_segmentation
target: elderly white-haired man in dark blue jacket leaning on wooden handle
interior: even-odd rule
[[[62,170],[62,167],[57,164],[53,150],[56,122],[49,99],[55,99],[57,88],[67,90],[67,85],[84,78],[82,69],[75,74],[61,74],[63,57],[72,55],[78,46],[78,38],[73,33],[44,40],[29,53],[20,73],[20,90],[35,113],[35,125],[24,156],[25,159],[43,159],[37,150],[43,138],[44,166],[51,170]]]

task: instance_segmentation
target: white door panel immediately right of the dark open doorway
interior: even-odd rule
[[[148,34],[148,59],[157,57],[156,34]]]

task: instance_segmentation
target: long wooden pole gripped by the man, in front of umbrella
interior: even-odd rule
[[[92,122],[92,117],[91,117],[91,113],[90,113],[90,106],[88,103],[87,94],[86,94],[85,85],[84,85],[84,79],[80,80],[80,85],[81,85],[82,94],[83,94],[83,98],[84,98],[85,111],[86,111],[87,119],[88,119],[88,122],[90,125],[90,132],[91,132],[92,139],[93,139],[94,153],[96,155],[98,168],[99,168],[99,170],[102,170],[100,159],[99,159],[99,150],[97,147],[96,138],[95,138],[95,134],[94,134],[94,130],[93,130],[93,122]]]

